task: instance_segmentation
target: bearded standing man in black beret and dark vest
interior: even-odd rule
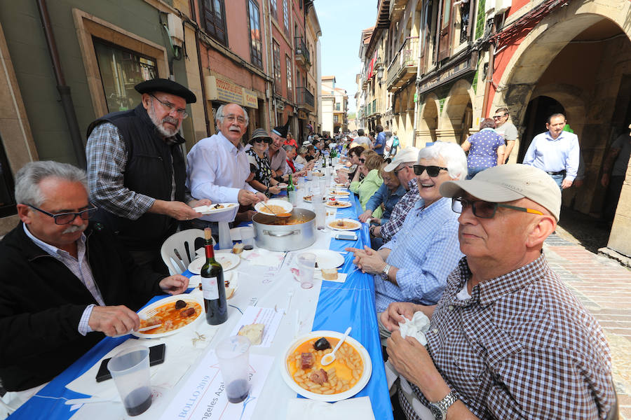
[[[200,216],[191,207],[208,205],[186,191],[179,135],[193,92],[172,80],[135,85],[142,102],[109,113],[88,127],[88,183],[99,210],[95,220],[118,234],[139,265],[168,274],[160,257],[177,221]]]

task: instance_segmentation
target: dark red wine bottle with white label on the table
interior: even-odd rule
[[[224,269],[215,260],[215,250],[212,249],[210,228],[204,229],[204,248],[206,262],[202,266],[200,275],[202,292],[204,295],[204,309],[206,322],[219,325],[228,319],[228,302],[226,302],[226,285],[224,284]]]

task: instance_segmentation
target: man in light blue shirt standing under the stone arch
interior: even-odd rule
[[[572,186],[580,159],[578,136],[563,131],[565,123],[562,113],[552,114],[545,123],[548,131],[532,139],[523,162],[547,172],[562,190]]]

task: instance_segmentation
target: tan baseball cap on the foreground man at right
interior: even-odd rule
[[[446,181],[440,186],[443,197],[457,197],[466,191],[487,202],[503,203],[528,198],[548,209],[559,221],[561,190],[541,169],[528,165],[499,165],[478,172],[468,181]]]

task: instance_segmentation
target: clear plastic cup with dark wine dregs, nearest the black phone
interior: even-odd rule
[[[149,348],[134,346],[121,350],[107,363],[107,369],[121,395],[125,411],[137,416],[151,407]]]

